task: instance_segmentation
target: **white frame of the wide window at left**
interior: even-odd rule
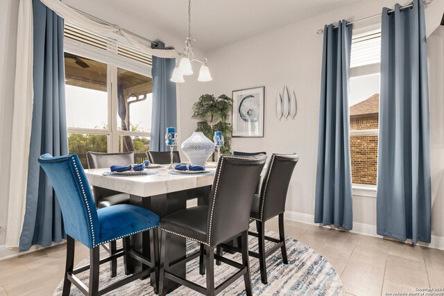
[[[69,24],[69,26],[75,27],[76,25]],[[87,31],[83,28],[78,29]],[[119,130],[117,128],[119,120],[117,115],[117,69],[125,69],[152,79],[153,75],[151,64],[144,64],[142,62],[131,60],[130,58],[119,55],[119,46],[123,46],[126,49],[131,49],[133,48],[131,45],[122,44],[117,40],[113,40],[109,37],[105,37],[91,31],[87,31],[87,33],[104,40],[107,44],[107,49],[100,49],[96,46],[65,36],[63,42],[64,52],[80,55],[98,62],[103,62],[107,65],[108,128],[99,129],[67,127],[68,134],[105,134],[108,136],[108,153],[119,152],[120,136],[148,137],[151,140],[151,127],[150,131],[148,132],[133,132],[129,130]],[[135,50],[137,51],[137,49]]]

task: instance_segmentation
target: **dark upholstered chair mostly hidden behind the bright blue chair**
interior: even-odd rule
[[[88,151],[86,153],[86,159],[88,168],[110,168],[110,166],[126,166],[128,164],[134,164],[135,153],[99,153]],[[94,194],[94,202],[96,202],[96,208],[102,209],[104,207],[110,207],[115,204],[129,204],[130,195],[121,193],[119,191],[113,191],[97,186],[92,186],[92,193]],[[103,245],[105,250],[112,255],[117,252],[116,241],[112,241],[108,244],[108,248]],[[110,261],[111,277],[117,275],[117,259]]]

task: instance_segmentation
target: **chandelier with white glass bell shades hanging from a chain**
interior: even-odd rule
[[[207,58],[205,58],[205,62],[200,60],[196,60],[194,58],[193,53],[193,44],[192,41],[196,41],[191,39],[191,0],[188,0],[188,36],[185,38],[185,48],[183,53],[179,53],[182,57],[180,59],[179,67],[175,67],[173,70],[173,75],[171,75],[171,81],[176,83],[185,82],[183,76],[192,75],[193,68],[191,67],[191,62],[200,63],[199,77],[197,78],[200,82],[207,82],[213,80],[210,75],[210,69],[207,67]]]

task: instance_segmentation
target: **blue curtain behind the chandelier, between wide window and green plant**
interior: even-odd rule
[[[165,44],[157,41],[153,49],[164,49]],[[150,150],[167,151],[165,133],[167,128],[177,128],[176,83],[171,82],[176,59],[153,56],[153,107],[151,115]]]

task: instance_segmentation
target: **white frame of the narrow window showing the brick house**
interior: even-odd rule
[[[366,33],[359,33],[356,37],[352,37],[352,40],[360,39],[361,37],[368,35],[374,35],[375,33],[379,33],[380,38],[380,28],[379,31],[372,30],[367,31]],[[373,64],[364,64],[358,67],[350,68],[350,79],[360,76],[368,76],[371,74],[381,73],[381,63],[373,63]],[[350,118],[350,117],[349,117]],[[367,130],[350,130],[349,139],[354,136],[378,136],[379,140],[379,127],[377,129],[367,129]],[[358,184],[352,183],[352,195],[368,197],[368,198],[376,198],[376,188],[377,185],[371,184]]]

